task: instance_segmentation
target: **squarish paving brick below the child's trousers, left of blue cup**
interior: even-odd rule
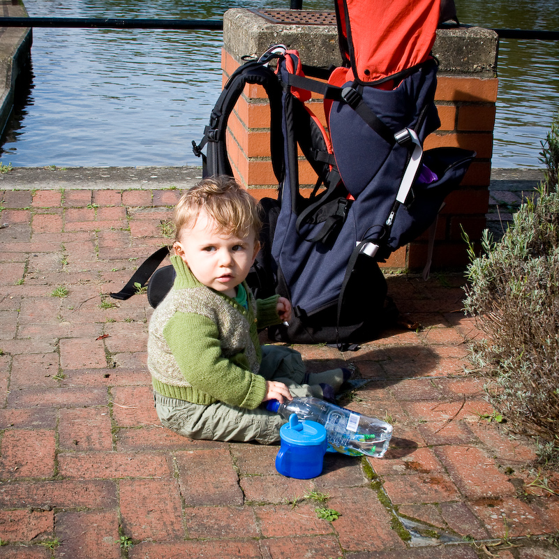
[[[242,505],[231,454],[227,448],[177,452],[181,494],[186,505]]]

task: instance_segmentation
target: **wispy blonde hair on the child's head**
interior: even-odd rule
[[[173,212],[175,241],[179,241],[181,230],[194,226],[201,209],[222,232],[239,238],[254,232],[258,240],[262,221],[256,200],[231,177],[203,179],[181,196]]]

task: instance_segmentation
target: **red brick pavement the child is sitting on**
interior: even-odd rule
[[[460,276],[389,277],[419,331],[297,347],[311,371],[370,378],[347,405],[394,438],[384,459],[328,454],[320,477],[288,479],[277,447],[158,425],[151,308],[107,297],[161,244],[178,190],[0,194],[0,558],[559,557],[559,498],[526,467],[535,445],[486,419],[488,379],[465,372],[479,332]],[[318,518],[311,491],[341,516]]]

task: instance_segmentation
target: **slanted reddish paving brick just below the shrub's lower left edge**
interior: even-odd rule
[[[447,468],[452,481],[470,499],[514,495],[509,476],[498,470],[495,461],[475,447],[436,447],[435,454]]]

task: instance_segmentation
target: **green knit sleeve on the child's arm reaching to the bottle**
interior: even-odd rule
[[[163,336],[184,378],[219,401],[254,409],[266,394],[266,381],[248,367],[243,353],[224,357],[215,323],[195,313],[176,313]]]

